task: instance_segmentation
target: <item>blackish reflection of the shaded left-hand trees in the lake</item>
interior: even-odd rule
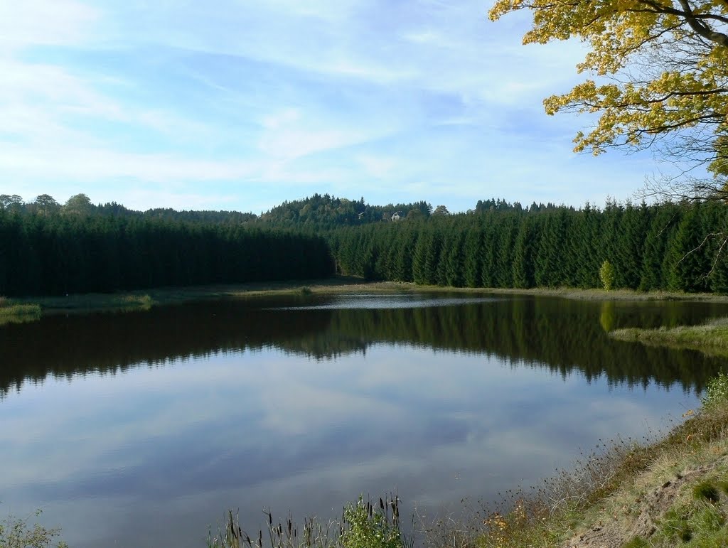
[[[49,375],[116,373],[280,346],[325,331],[329,315],[322,311],[304,318],[231,300],[9,325],[0,328],[0,395]]]

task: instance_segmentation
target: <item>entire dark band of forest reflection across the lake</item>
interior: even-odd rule
[[[626,325],[695,323],[718,314],[715,305],[532,297],[413,309],[265,308],[271,305],[196,303],[10,325],[0,329],[0,393],[48,375],[116,372],[181,357],[275,348],[331,360],[380,343],[496,355],[563,376],[577,371],[587,380],[606,376],[614,384],[636,386],[678,382],[697,390],[724,363],[697,352],[613,341],[606,335],[606,330]]]

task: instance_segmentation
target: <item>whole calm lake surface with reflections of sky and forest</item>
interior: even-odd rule
[[[0,515],[74,547],[204,546],[397,491],[432,515],[640,437],[724,362],[605,330],[699,303],[340,295],[196,303],[0,327]],[[252,535],[251,535],[252,536]]]

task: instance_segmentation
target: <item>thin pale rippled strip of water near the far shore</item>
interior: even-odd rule
[[[350,309],[422,309],[432,306],[461,306],[464,304],[494,303],[501,301],[495,297],[456,297],[444,298],[423,295],[378,295],[359,293],[337,295],[333,303],[308,306],[281,306],[273,310],[350,310]]]

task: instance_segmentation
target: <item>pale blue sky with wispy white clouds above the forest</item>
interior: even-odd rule
[[[574,154],[542,100],[576,41],[524,46],[488,0],[0,0],[0,194],[261,213],[370,204],[601,205],[649,152]]]

